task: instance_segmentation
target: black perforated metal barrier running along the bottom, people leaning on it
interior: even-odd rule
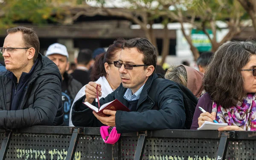
[[[255,131],[160,130],[105,144],[99,128],[0,130],[0,160],[255,160]]]

